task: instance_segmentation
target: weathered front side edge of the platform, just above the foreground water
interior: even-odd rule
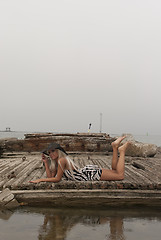
[[[13,190],[18,202],[27,205],[92,206],[161,206],[161,191],[154,190]]]

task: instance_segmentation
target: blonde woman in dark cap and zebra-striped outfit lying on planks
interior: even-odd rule
[[[72,181],[118,181],[124,179],[125,171],[125,152],[129,145],[126,142],[122,146],[120,143],[126,136],[119,137],[112,142],[113,156],[112,156],[112,169],[100,168],[97,165],[87,165],[79,168],[70,159],[65,150],[57,143],[52,143],[42,153],[42,161],[44,162],[47,178],[41,178],[31,183],[39,182],[59,182],[62,177],[66,180]],[[119,157],[118,157],[119,151]],[[48,157],[51,158],[51,166],[48,165]]]

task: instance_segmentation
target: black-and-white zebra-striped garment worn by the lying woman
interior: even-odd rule
[[[70,181],[99,181],[102,169],[97,165],[87,165],[77,170],[65,170],[63,177]]]

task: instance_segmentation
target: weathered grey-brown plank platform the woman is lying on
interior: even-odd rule
[[[111,153],[69,152],[79,166],[97,164],[111,168]],[[0,159],[0,190],[9,188],[18,202],[30,206],[161,206],[161,158],[126,157],[123,181],[59,183],[29,181],[45,178],[41,154],[6,152]]]

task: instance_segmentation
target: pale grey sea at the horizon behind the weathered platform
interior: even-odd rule
[[[5,132],[0,131],[0,139],[2,138],[18,138],[24,139],[25,134],[33,132]],[[110,134],[111,137],[119,136],[119,134]],[[161,135],[133,135],[136,141],[143,143],[152,143],[156,144],[158,147],[161,146]]]

